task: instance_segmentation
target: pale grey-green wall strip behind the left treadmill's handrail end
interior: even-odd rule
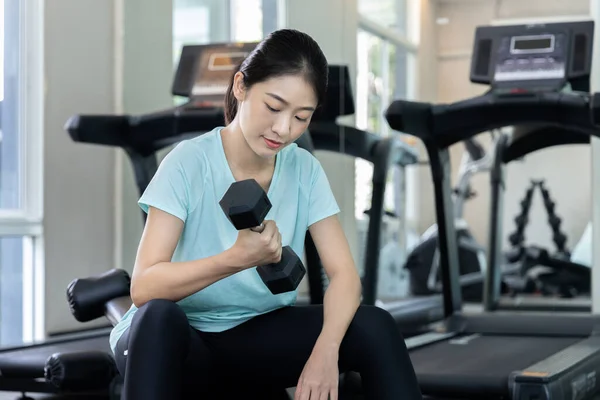
[[[123,112],[145,114],[173,107],[172,1],[124,0]],[[143,219],[129,158],[119,151],[117,188],[121,207],[117,216],[120,267],[133,271]]]

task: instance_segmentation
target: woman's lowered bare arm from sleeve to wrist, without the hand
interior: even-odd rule
[[[337,350],[360,305],[362,285],[337,215],[314,223],[309,232],[329,277],[317,345]]]

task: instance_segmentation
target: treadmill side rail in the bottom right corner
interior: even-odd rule
[[[577,342],[510,377],[514,400],[585,400],[600,392],[600,337]]]

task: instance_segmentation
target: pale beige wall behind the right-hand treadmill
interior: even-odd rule
[[[469,82],[471,48],[475,27],[489,25],[493,20],[582,16],[589,13],[589,0],[438,0],[436,18],[445,18],[448,23],[437,25],[437,102],[452,102],[476,96],[488,89],[487,86]],[[489,143],[486,136],[480,136]],[[460,145],[451,149],[453,178],[457,173],[462,153]],[[507,171],[505,197],[504,237],[514,230],[514,217],[520,212],[530,179],[545,179],[551,195],[557,203],[556,212],[563,219],[562,231],[568,236],[567,246],[577,242],[585,224],[590,219],[590,149],[589,146],[562,146],[543,150],[527,157],[524,162],[514,162]],[[431,185],[421,190],[423,207],[421,226],[434,222],[433,208],[426,208],[428,196],[432,196]],[[473,179],[477,197],[469,201],[465,218],[477,238],[487,246],[489,175],[482,174]],[[429,191],[428,191],[429,190]],[[536,194],[530,212],[530,224],[526,230],[529,243],[547,246],[554,250],[551,230],[539,193]],[[505,244],[508,245],[507,239]]]

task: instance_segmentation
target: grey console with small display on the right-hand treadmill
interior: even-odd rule
[[[593,21],[478,27],[471,82],[589,91],[593,35]]]

